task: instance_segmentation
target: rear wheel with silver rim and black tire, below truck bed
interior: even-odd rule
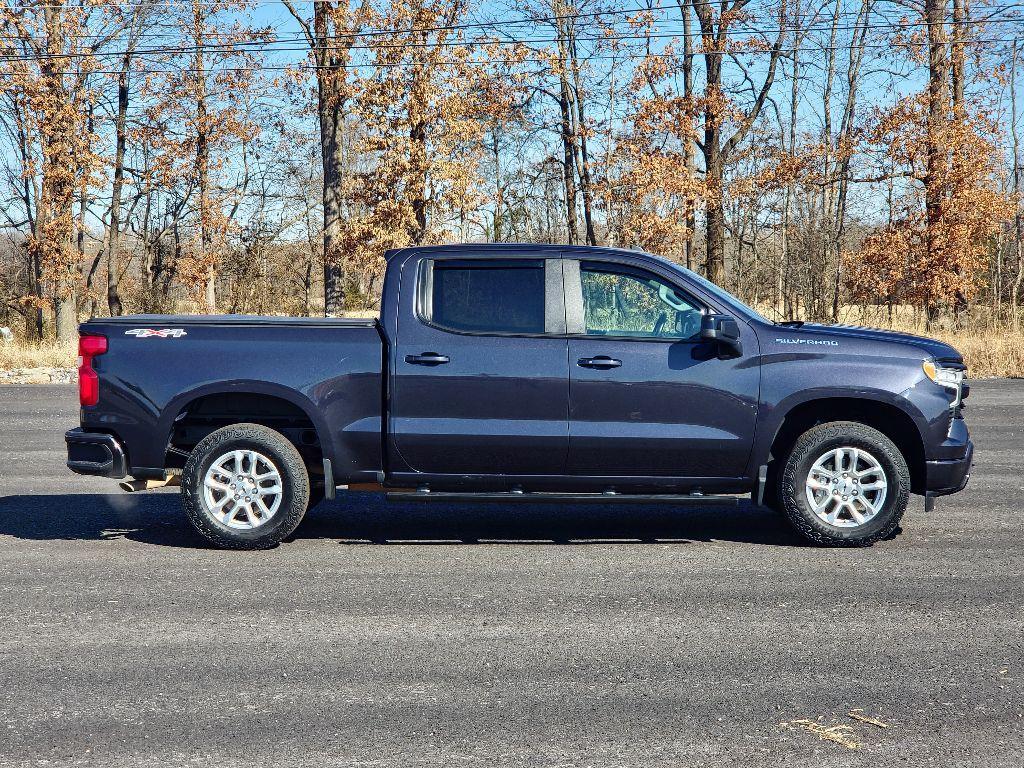
[[[215,546],[269,549],[306,513],[309,475],[283,434],[260,424],[232,424],[207,435],[189,454],[181,502],[196,529]]]

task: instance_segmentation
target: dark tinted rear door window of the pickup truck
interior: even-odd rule
[[[452,331],[544,333],[544,261],[437,260],[427,315]]]

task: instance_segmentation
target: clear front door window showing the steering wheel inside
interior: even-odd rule
[[[583,264],[580,278],[588,336],[689,339],[700,333],[695,302],[652,274]]]

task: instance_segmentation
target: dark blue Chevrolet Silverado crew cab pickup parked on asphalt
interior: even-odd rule
[[[446,502],[750,494],[813,543],[865,546],[896,531],[911,494],[931,510],[967,484],[969,388],[946,344],[772,323],[636,251],[386,260],[379,319],[83,324],[69,468],[179,483],[197,529],[236,549],[276,545],[340,486]]]

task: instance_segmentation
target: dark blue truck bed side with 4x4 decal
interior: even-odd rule
[[[311,435],[309,450],[341,478],[382,467],[385,346],[374,317],[131,314],[81,332],[108,341],[92,364],[99,403],[82,409],[82,428],[116,435],[135,477],[180,463],[169,437],[187,450],[204,425],[242,417]]]

